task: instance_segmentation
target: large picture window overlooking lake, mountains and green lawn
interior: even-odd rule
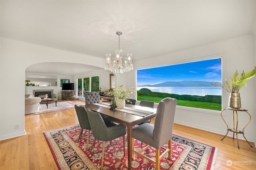
[[[221,58],[137,70],[137,100],[172,97],[178,106],[221,110],[222,89],[209,84],[221,80]]]

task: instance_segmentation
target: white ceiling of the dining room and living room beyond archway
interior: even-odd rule
[[[124,54],[133,54],[133,62],[250,34],[255,21],[254,0],[0,3],[2,37],[105,58],[105,53],[114,55],[118,48],[116,31],[122,31],[120,48]],[[59,66],[63,68],[65,64],[76,69],[63,72]],[[74,75],[98,69],[71,63],[52,63],[50,69],[42,66],[30,66],[26,72]]]

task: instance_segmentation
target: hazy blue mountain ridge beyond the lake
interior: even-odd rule
[[[213,82],[206,81],[180,81],[180,82],[162,82],[159,84],[143,84],[138,87],[214,87]]]

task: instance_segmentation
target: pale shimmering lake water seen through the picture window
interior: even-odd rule
[[[221,87],[137,87],[137,90],[141,88],[148,88],[152,92],[162,92],[170,94],[188,94],[188,95],[216,95],[221,96]]]

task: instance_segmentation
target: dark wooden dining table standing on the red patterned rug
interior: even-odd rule
[[[105,103],[106,105],[106,103]],[[138,125],[148,119],[156,117],[156,109],[150,107],[142,107],[138,105],[126,104],[124,109],[121,110],[110,110],[110,106],[104,106],[104,103],[99,104],[89,104],[85,105],[86,108],[91,111],[96,111],[102,115],[102,117],[110,119],[116,123],[120,123],[127,127],[127,152],[128,152],[128,170],[132,169],[132,128],[134,125]],[[132,109],[133,113],[128,113],[124,111],[125,109]],[[136,112],[148,111],[151,112],[146,116],[136,115]]]

